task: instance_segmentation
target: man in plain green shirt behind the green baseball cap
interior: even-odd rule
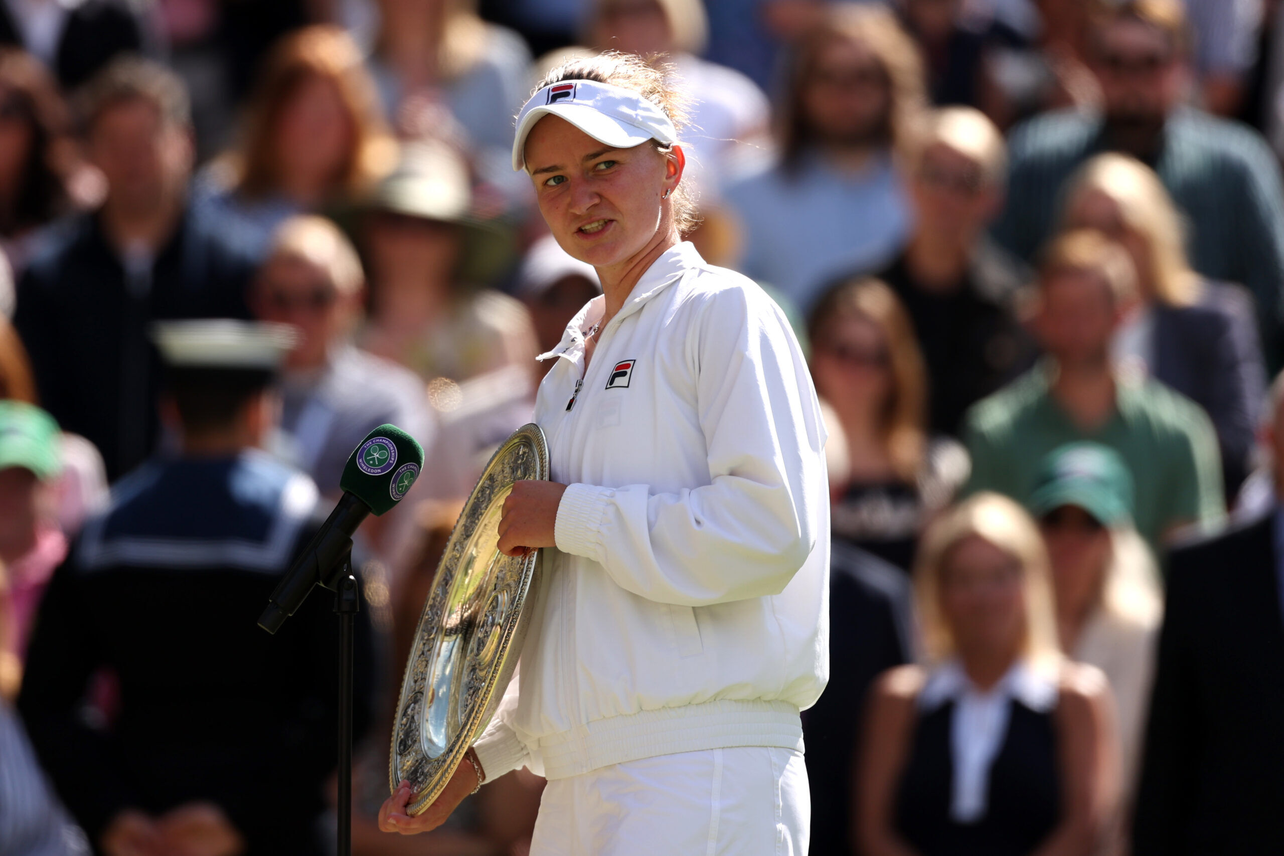
[[[1067,232],[1052,243],[1035,313],[1048,358],[968,413],[967,493],[996,490],[1028,502],[1049,452],[1091,440],[1118,452],[1131,471],[1134,520],[1152,548],[1186,524],[1220,522],[1221,470],[1208,417],[1111,361],[1121,309],[1135,289],[1130,257],[1100,232]]]

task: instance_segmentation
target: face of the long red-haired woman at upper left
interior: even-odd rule
[[[282,169],[333,181],[352,151],[353,136],[335,85],[308,77],[286,99],[276,121],[277,162]]]

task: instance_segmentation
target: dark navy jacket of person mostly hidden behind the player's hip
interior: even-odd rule
[[[833,542],[829,558],[829,683],[802,711],[811,791],[811,852],[855,853],[851,782],[856,734],[874,678],[910,662],[909,578],[863,549]]]

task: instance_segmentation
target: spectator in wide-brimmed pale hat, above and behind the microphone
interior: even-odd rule
[[[361,235],[370,314],[358,341],[428,385],[443,470],[425,489],[466,497],[494,447],[530,417],[539,353],[530,313],[484,287],[510,263],[512,235],[476,213],[467,164],[439,140],[403,146]]]

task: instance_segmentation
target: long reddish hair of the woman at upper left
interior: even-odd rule
[[[304,27],[282,39],[268,56],[245,117],[245,136],[231,166],[236,190],[248,198],[276,191],[280,176],[276,126],[309,80],[334,86],[352,127],[352,140],[333,193],[360,195],[397,166],[397,142],[384,123],[375,81],[361,49],[333,24]]]

